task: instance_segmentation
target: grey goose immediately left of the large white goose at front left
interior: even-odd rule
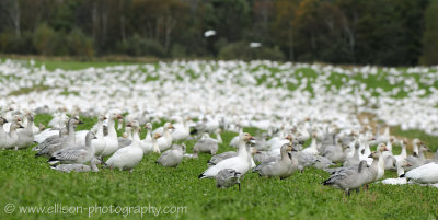
[[[56,164],[60,163],[88,163],[94,158],[94,148],[91,144],[91,140],[95,139],[95,135],[89,131],[85,136],[85,146],[71,146],[56,151],[51,154],[48,163]]]

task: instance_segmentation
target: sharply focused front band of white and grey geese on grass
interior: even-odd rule
[[[148,114],[123,117],[114,109],[100,114],[90,130],[76,130],[81,119],[58,113],[46,129],[34,124],[33,112],[2,107],[0,148],[20,150],[36,142],[35,157],[47,158],[50,167],[60,172],[97,172],[100,167],[132,172],[149,153],[160,154],[158,164],[176,167],[184,159],[197,160],[199,153],[208,153],[211,158],[198,178],[216,178],[219,188],[238,184],[240,189],[240,178],[249,172],[284,180],[311,166],[331,174],[323,185],[347,195],[362,186],[368,189],[374,182],[438,187],[438,151],[428,159],[425,152],[430,150],[414,139],[413,153],[408,155],[410,141],[397,140],[388,127],[373,134],[369,126],[347,130],[336,124],[303,118],[297,125],[269,127],[252,136],[243,131],[240,121],[230,124],[206,117],[194,123],[192,117],[183,116],[153,129],[154,120],[158,119]],[[146,137],[140,137],[141,129],[147,130]],[[124,130],[123,137],[117,136],[117,130]],[[218,154],[223,130],[238,132],[226,143],[237,150]],[[188,139],[197,140],[192,153],[183,143]],[[303,148],[307,140],[311,143]],[[371,151],[370,146],[377,146],[377,150]],[[402,148],[401,154],[393,154],[395,147]],[[388,170],[396,171],[397,177],[382,180]]]

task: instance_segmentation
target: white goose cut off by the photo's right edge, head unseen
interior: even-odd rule
[[[405,174],[407,181],[413,181],[419,184],[438,183],[438,164],[435,162],[418,166],[408,171]]]

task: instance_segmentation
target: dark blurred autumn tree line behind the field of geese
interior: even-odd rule
[[[438,63],[438,0],[1,0],[0,54]]]

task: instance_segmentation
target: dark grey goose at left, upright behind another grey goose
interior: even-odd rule
[[[68,148],[76,144],[76,135],[74,135],[74,126],[78,124],[82,124],[77,117],[72,117],[67,123],[67,136],[54,138],[51,140],[43,141],[37,146],[39,151],[35,154],[35,157],[51,157],[51,154],[62,148]],[[62,132],[62,131],[60,131]]]

